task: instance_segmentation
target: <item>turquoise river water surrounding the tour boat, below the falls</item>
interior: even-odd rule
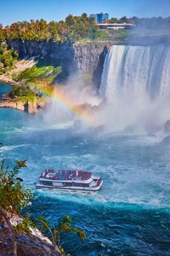
[[[20,176],[34,189],[31,215],[56,223],[67,214],[85,230],[85,242],[74,234],[61,237],[71,255],[170,255],[170,147],[161,143],[164,137],[80,133],[48,123],[43,113],[0,109],[1,157],[27,159]],[[99,192],[36,191],[42,170],[74,162],[101,176]]]

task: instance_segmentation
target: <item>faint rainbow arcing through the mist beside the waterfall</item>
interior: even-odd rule
[[[63,108],[68,109],[74,115],[78,116],[85,124],[88,124],[88,126],[95,126],[94,119],[88,113],[88,110],[85,110],[85,106],[82,105],[76,106],[72,99],[69,99],[68,96],[64,95],[61,91],[61,89],[52,89],[52,88],[42,88],[42,86],[38,86],[36,84],[36,89],[39,89],[39,91],[42,91],[43,94],[45,94],[47,97],[51,97],[55,99]]]

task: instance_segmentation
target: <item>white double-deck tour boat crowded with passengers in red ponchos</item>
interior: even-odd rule
[[[69,189],[80,191],[98,191],[103,181],[84,170],[45,170],[36,184],[37,189]]]

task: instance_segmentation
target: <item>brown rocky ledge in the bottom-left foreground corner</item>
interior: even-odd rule
[[[57,246],[37,230],[18,235],[12,227],[12,216],[0,209],[0,255],[5,256],[62,256]]]

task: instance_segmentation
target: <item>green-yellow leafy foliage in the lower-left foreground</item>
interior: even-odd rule
[[[1,161],[0,166],[0,209],[19,214],[20,210],[31,204],[33,194],[23,186],[23,179],[18,177],[20,168],[26,167],[26,160],[15,161],[14,167],[10,169],[9,165],[5,165],[5,160]],[[60,237],[62,233],[77,233],[77,235],[85,240],[84,231],[72,226],[72,219],[69,216],[63,217],[58,225],[52,225],[44,217],[30,218],[28,212],[25,217],[15,225],[15,233],[26,234],[32,233],[32,230],[38,227],[45,236],[48,236],[53,244],[57,244],[63,255],[66,255],[61,246]],[[68,254],[69,256],[69,254]]]

